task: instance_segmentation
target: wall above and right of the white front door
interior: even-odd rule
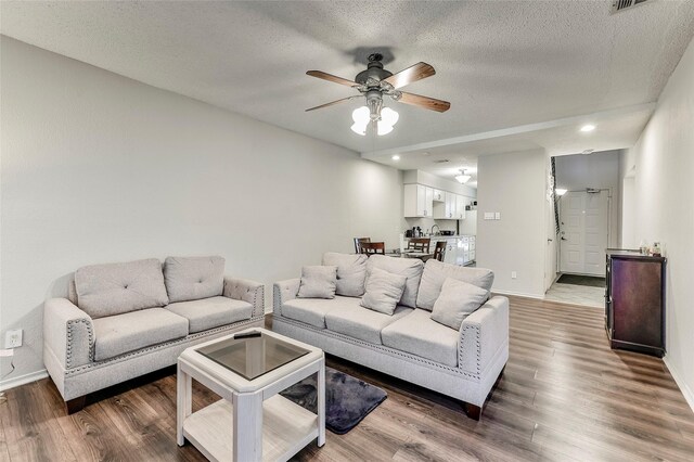
[[[588,155],[555,157],[557,188],[569,191],[584,191],[586,188],[609,190],[608,245],[611,247],[618,247],[620,241],[619,153],[619,151],[604,151]]]

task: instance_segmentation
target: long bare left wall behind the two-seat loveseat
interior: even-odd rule
[[[0,43],[0,338],[24,329],[5,385],[43,369],[43,300],[66,294],[80,266],[218,254],[229,274],[271,283],[325,251],[352,252],[357,235],[398,245],[398,170],[7,37]],[[9,364],[0,365],[4,374]]]

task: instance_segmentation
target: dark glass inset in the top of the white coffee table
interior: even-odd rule
[[[227,338],[196,351],[249,381],[310,352],[265,333],[258,337]]]

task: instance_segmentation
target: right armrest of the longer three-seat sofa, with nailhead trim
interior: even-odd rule
[[[458,367],[479,375],[502,347],[509,348],[509,298],[496,296],[460,326]]]

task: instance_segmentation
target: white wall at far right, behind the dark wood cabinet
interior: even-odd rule
[[[621,171],[635,167],[633,235],[663,243],[666,363],[694,409],[694,41],[670,76]]]

